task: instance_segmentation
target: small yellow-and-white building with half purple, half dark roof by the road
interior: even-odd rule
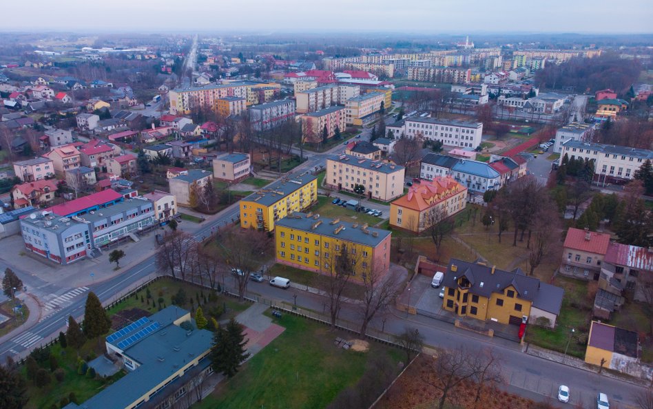
[[[639,366],[640,350],[637,332],[601,321],[592,321],[590,324],[588,346],[585,350],[586,363],[630,373],[633,366]]]

